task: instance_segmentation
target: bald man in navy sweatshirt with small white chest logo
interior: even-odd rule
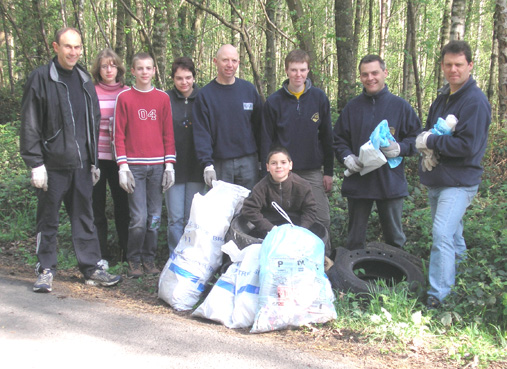
[[[223,45],[213,62],[217,76],[199,90],[193,108],[197,159],[208,186],[219,179],[251,190],[259,173],[262,101],[253,84],[235,77],[234,46]]]

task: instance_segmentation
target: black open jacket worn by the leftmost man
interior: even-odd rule
[[[28,77],[21,102],[20,153],[32,168],[83,168],[97,164],[100,107],[90,75],[79,64],[74,67],[83,83],[86,105],[86,144],[88,158],[81,157],[68,87],[60,81],[54,59]]]

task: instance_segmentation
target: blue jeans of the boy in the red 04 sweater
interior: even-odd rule
[[[128,194],[130,209],[127,260],[153,262],[157,253],[158,229],[162,213],[164,166],[131,165],[134,192]]]

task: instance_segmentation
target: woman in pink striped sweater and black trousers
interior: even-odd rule
[[[95,59],[91,74],[100,103],[99,168],[100,180],[93,188],[93,214],[100,241],[102,258],[105,260],[126,260],[128,225],[130,221],[127,193],[118,180],[118,166],[111,148],[114,127],[113,116],[118,94],[125,86],[125,67],[120,57],[111,49],[102,50]],[[109,183],[114,204],[114,219],[118,233],[119,250],[107,242],[106,182]],[[107,264],[106,264],[107,265]]]

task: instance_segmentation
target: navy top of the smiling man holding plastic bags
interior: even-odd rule
[[[415,139],[421,132],[421,122],[410,104],[389,92],[386,85],[373,96],[363,90],[361,95],[347,103],[334,127],[336,158],[343,163],[350,154],[359,156],[360,147],[368,142],[375,127],[384,119],[400,145],[400,156],[415,155]],[[396,168],[384,164],[364,176],[355,173],[345,177],[342,195],[373,200],[407,196],[404,163]]]

